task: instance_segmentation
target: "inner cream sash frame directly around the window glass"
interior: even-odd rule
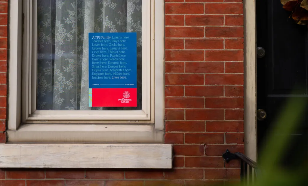
[[[22,122],[54,120],[151,120],[154,109],[154,0],[142,0],[142,109],[141,110],[37,110],[37,0],[23,1],[25,16],[22,63]],[[151,19],[152,18],[152,19]],[[152,92],[151,92],[152,90]],[[151,104],[152,103],[152,104]],[[100,121],[101,122],[101,121]]]

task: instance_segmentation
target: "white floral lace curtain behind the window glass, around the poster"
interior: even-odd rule
[[[141,1],[38,0],[37,109],[141,109]],[[88,33],[137,33],[137,107],[88,107]]]

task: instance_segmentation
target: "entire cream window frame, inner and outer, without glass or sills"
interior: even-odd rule
[[[37,16],[36,11],[32,11],[36,10],[36,2],[37,0],[24,0],[23,5],[19,1],[12,2],[16,3],[16,7],[14,6],[10,9],[10,19],[14,20],[14,22],[10,24],[10,56],[12,57],[9,61],[9,129],[17,129],[20,123],[129,124],[134,122],[138,124],[154,124],[155,121],[160,121],[161,123],[159,126],[156,125],[155,128],[163,129],[164,14],[162,15],[163,11],[161,9],[155,9],[155,6],[163,6],[162,1],[142,0],[142,47],[144,51],[142,56],[143,106],[142,110],[131,111],[36,110]],[[21,31],[22,9],[24,12],[23,34]],[[151,24],[151,22],[155,24]],[[22,44],[21,38],[23,39]],[[20,68],[21,66],[22,68]],[[21,73],[21,70],[23,73]]]

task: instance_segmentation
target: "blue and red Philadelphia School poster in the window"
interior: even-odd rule
[[[89,33],[89,106],[137,106],[136,33]]]

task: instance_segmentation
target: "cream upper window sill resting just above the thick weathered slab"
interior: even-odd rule
[[[163,143],[154,125],[28,124],[7,131],[10,143]]]

